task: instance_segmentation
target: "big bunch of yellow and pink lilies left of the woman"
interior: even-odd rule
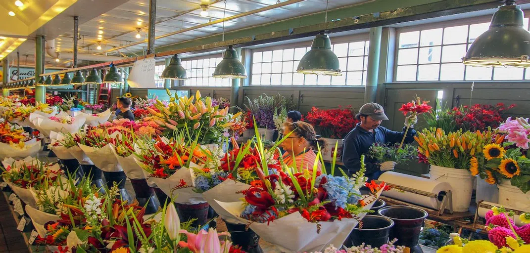
[[[169,90],[167,94],[170,95]],[[155,105],[158,111],[147,107],[155,118],[155,122],[165,128],[164,135],[168,138],[178,135],[177,130],[183,130],[190,140],[198,140],[200,144],[219,143],[225,129],[231,127],[238,120],[241,113],[228,118],[228,107],[218,109],[211,105],[211,97],[201,97],[199,91],[196,96],[171,97],[169,106],[162,102]]]

